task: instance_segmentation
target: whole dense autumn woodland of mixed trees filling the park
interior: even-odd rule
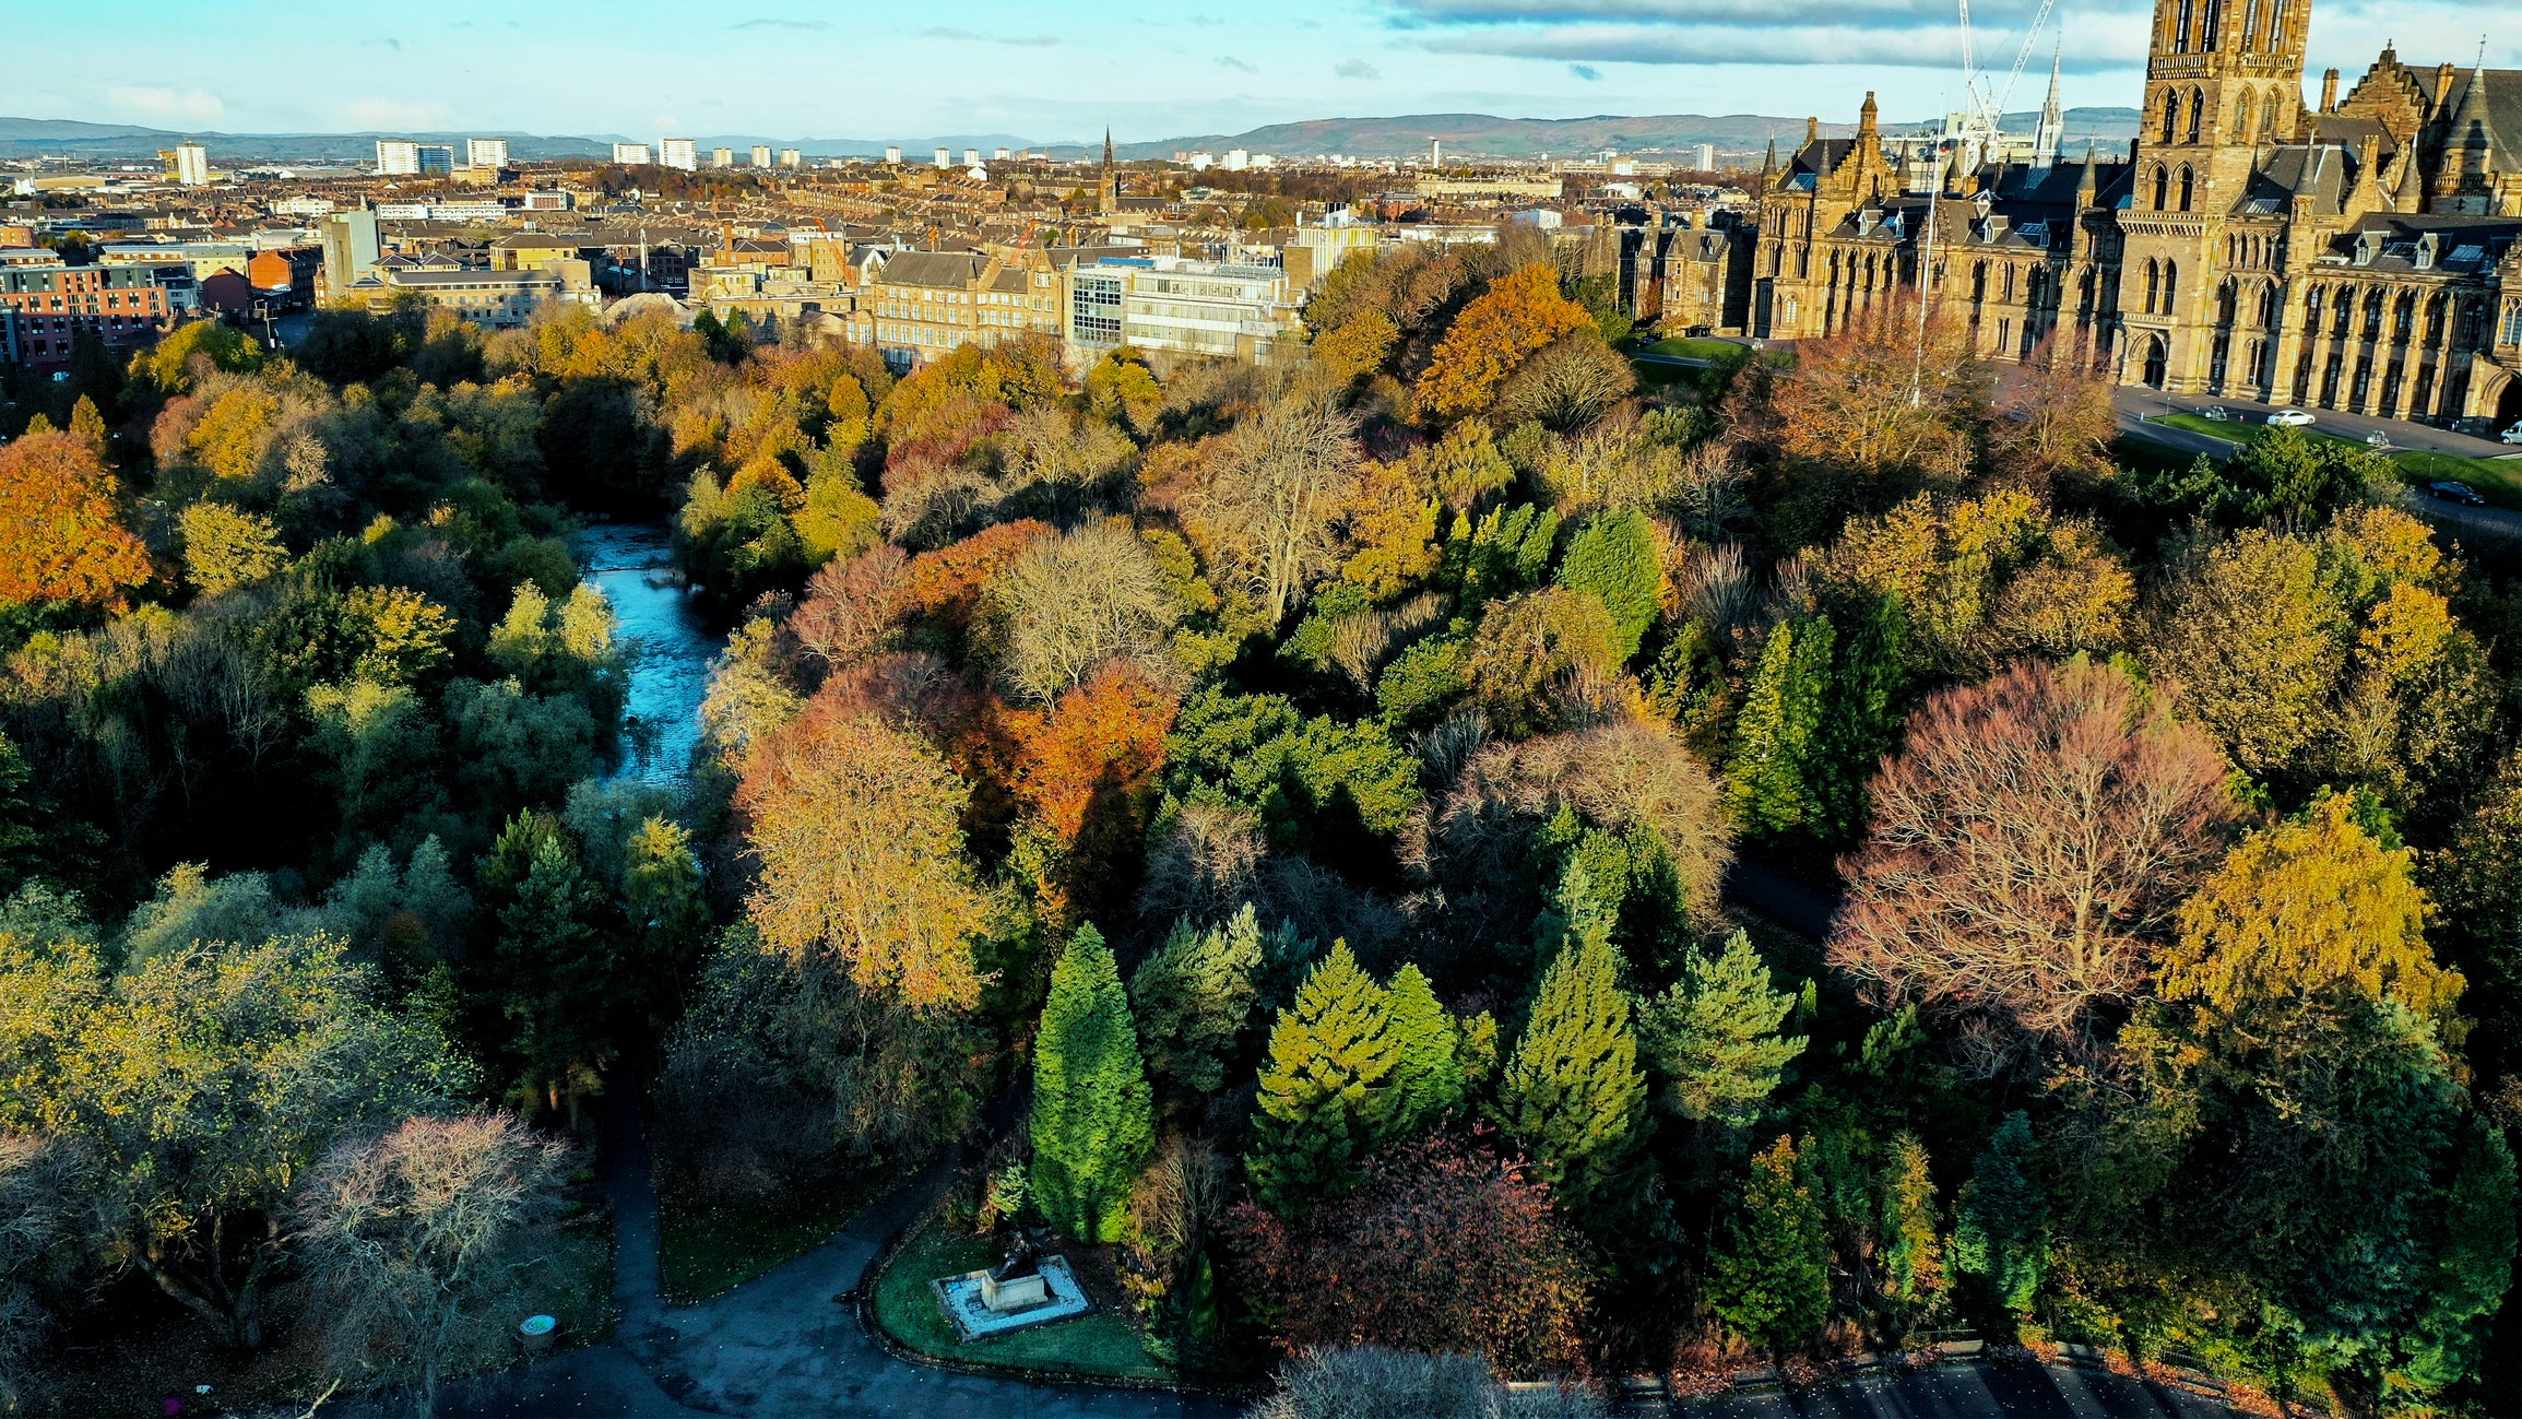
[[[2522,1391],[2512,549],[1942,307],[1639,383],[1501,232],[1304,320],[328,313],[18,391],[0,1409],[154,1328],[426,1411],[623,1091],[767,1217],[961,1149],[938,1225],[1284,1419],[1960,1333]],[[681,776],[608,519],[726,635]]]

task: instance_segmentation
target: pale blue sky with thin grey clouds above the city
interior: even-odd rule
[[[2234,0],[2240,3],[2240,0]],[[2313,0],[2310,78],[2522,66],[2512,0]],[[184,131],[1120,141],[1390,113],[1821,113],[1962,101],[1955,0],[8,0],[0,111]],[[487,13],[484,13],[487,10]],[[2038,0],[1972,5],[2002,73]],[[2149,0],[2058,0],[2068,106],[2139,101]],[[467,18],[467,13],[477,13]]]

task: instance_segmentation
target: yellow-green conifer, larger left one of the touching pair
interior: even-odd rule
[[[1253,1149],[1243,1154],[1264,1207],[1296,1215],[1347,1192],[1359,1159],[1385,1139],[1400,1059],[1390,993],[1357,968],[1349,943],[1332,943],[1269,1031]]]

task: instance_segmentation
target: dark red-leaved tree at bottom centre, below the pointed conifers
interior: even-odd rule
[[[1246,1202],[1228,1225],[1246,1295],[1289,1353],[1478,1351],[1501,1374],[1574,1374],[1586,1268],[1549,1187],[1427,1139],[1367,1167],[1301,1227]]]

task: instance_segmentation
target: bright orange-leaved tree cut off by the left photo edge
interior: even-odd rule
[[[76,434],[0,449],[0,602],[119,602],[149,580],[149,549],[113,507],[113,474]]]

